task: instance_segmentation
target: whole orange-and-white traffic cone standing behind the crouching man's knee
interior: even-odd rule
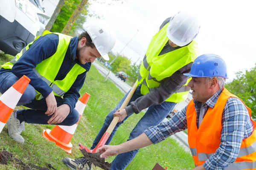
[[[75,109],[80,114],[79,121],[81,119],[81,116],[84,112],[84,108],[87,105],[89,98],[90,94],[85,93],[84,96],[82,96],[81,99],[76,103]],[[76,127],[79,121],[72,126],[56,125],[55,127],[53,127],[52,130],[44,130],[43,136],[49,141],[55,142],[56,145],[58,145],[61,149],[65,150],[67,153],[71,153],[73,145],[70,141],[73,137],[73,134],[76,131]]]

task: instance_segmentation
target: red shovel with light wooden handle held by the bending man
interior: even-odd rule
[[[128,102],[130,101],[132,95],[134,94],[135,90],[136,90],[136,85],[137,85],[137,81],[134,83],[134,86],[131,88],[131,91],[129,92],[128,96],[125,98],[125,101],[123,102],[123,104],[121,105],[120,107],[120,111],[122,109],[125,108],[125,106],[128,105]],[[96,153],[96,150],[99,148],[99,147],[102,147],[104,144],[106,144],[109,136],[111,135],[112,131],[114,130],[116,124],[118,123],[119,121],[119,116],[114,116],[111,124],[109,125],[108,129],[106,130],[106,132],[104,133],[104,135],[102,136],[102,138],[100,139],[99,143],[97,144],[97,146],[93,149],[93,150],[90,150],[86,147],[84,147],[81,143],[79,143],[79,149],[80,150],[83,150],[85,149],[87,152],[89,153]]]

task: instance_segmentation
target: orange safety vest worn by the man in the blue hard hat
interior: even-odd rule
[[[208,109],[199,128],[196,125],[197,115],[194,102],[189,102],[187,106],[188,142],[196,167],[204,164],[221,144],[222,113],[230,97],[238,98],[224,88],[215,106]],[[246,108],[251,119],[251,110],[247,106]],[[251,121],[254,126],[253,133],[242,141],[236,161],[226,170],[256,170],[256,122],[253,119]]]

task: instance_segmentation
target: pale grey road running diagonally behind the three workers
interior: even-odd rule
[[[109,74],[109,70],[104,68],[101,64],[97,63],[97,62],[93,62],[92,63],[97,70],[105,77],[107,77],[107,75]],[[131,86],[126,84],[125,82],[123,82],[121,79],[117,78],[115,76],[115,74],[113,74],[112,72],[108,75],[108,79],[110,79],[111,81],[113,81],[116,86],[123,92],[123,93],[127,93],[130,89]],[[163,122],[168,121],[168,119],[164,119]],[[189,149],[189,144],[188,144],[188,136],[185,132],[178,132],[174,135],[172,135],[172,138],[176,139],[177,142],[187,151],[190,153],[190,149]]]

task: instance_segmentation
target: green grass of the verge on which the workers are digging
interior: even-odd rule
[[[0,54],[0,64],[9,60],[10,56]],[[52,129],[54,125],[25,124],[26,130],[21,133],[25,139],[24,144],[16,143],[11,139],[6,126],[0,133],[0,149],[6,148],[16,158],[25,163],[38,164],[41,167],[47,167],[47,164],[50,163],[57,170],[68,170],[62,164],[61,159],[82,156],[78,143],[81,142],[86,147],[91,146],[102,127],[105,116],[124,95],[110,80],[104,82],[104,78],[92,65],[85,84],[80,90],[80,94],[87,92],[91,96],[71,140],[73,144],[71,154],[67,154],[64,150],[55,146],[53,142],[48,142],[42,137],[43,129]],[[21,109],[21,107],[18,107],[18,109]],[[143,113],[134,114],[126,120],[118,128],[111,144],[125,142],[142,116]],[[107,161],[111,162],[113,159],[114,157],[110,157]],[[157,162],[163,167],[167,166],[169,170],[190,170],[194,167],[190,154],[186,153],[174,139],[168,138],[159,144],[140,149],[140,152],[126,169],[151,170]],[[95,169],[99,170],[98,167]],[[7,165],[0,164],[0,170],[20,170],[20,167],[9,161]]]

